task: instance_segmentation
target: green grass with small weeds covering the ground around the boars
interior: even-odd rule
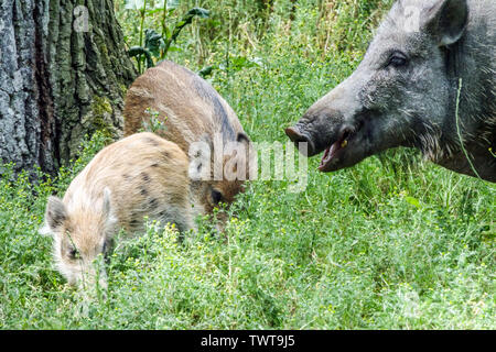
[[[229,9],[227,0],[196,2]],[[260,65],[209,78],[258,142],[285,143],[283,128],[356,67],[380,14],[368,1],[343,2],[322,24],[341,38],[325,52],[316,1],[301,1],[289,32],[288,3],[276,1],[265,31],[248,22],[256,48],[240,30],[231,35],[230,57]],[[250,20],[249,11],[230,11],[237,23]],[[192,69],[219,66],[228,30],[205,26],[202,56],[191,43],[200,25],[171,58]],[[317,173],[312,158],[302,194],[288,193],[289,182],[251,182],[222,238],[203,221],[179,245],[174,232],[151,224],[118,243],[108,299],[83,307],[53,270],[51,239],[36,231],[47,196],[62,195],[107,142],[96,135],[79,161],[42,185],[2,176],[1,329],[496,328],[496,188],[409,150],[332,174]]]

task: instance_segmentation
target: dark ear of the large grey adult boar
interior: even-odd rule
[[[438,0],[422,15],[427,32],[438,38],[440,46],[456,43],[468,21],[466,0]]]

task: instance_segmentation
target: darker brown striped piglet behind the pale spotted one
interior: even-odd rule
[[[193,143],[205,142],[209,145],[209,179],[192,182],[192,191],[198,199],[195,207],[201,208],[197,213],[211,213],[219,202],[230,204],[241,191],[248,170],[246,155],[245,165],[241,165],[244,169],[233,169],[244,174],[241,177],[214,177],[214,155],[223,151],[213,148],[223,150],[227,143],[239,143],[247,152],[248,135],[229,105],[206,80],[190,69],[169,61],[148,69],[129,88],[123,114],[125,135],[140,131],[143,124],[159,121],[162,128],[154,132],[176,143],[188,155]],[[157,121],[151,121],[153,118]],[[218,140],[220,143],[215,143]],[[229,167],[237,168],[239,163],[229,163],[229,160],[226,155],[219,162],[223,168],[220,174]]]

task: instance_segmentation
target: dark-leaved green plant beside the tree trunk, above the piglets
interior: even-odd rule
[[[209,11],[203,8],[193,8],[187,11],[181,20],[173,25],[168,26],[166,22],[171,19],[180,6],[180,0],[159,0],[151,3],[151,0],[126,0],[126,10],[138,11],[140,16],[140,42],[139,45],[129,50],[129,56],[138,61],[138,72],[141,74],[143,59],[147,68],[153,67],[157,62],[163,61],[168,53],[177,50],[172,46],[176,42],[181,31],[193,22],[194,18],[206,19]],[[147,15],[154,15],[161,12],[161,31],[158,33],[153,29],[144,29],[144,19]],[[143,43],[144,42],[144,43]]]

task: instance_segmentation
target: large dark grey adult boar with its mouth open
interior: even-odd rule
[[[325,151],[322,172],[411,146],[494,183],[495,32],[494,0],[397,1],[355,73],[285,132]]]

